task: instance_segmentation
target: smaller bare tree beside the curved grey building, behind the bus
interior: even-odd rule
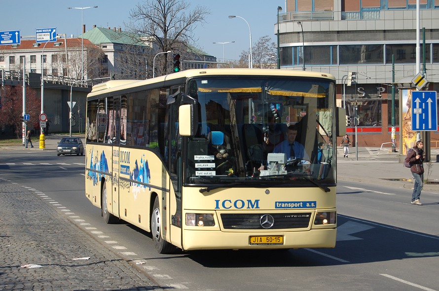
[[[261,36],[252,47],[253,68],[273,68],[277,63],[277,46],[269,36]],[[243,50],[235,68],[249,67],[249,50]],[[273,57],[274,56],[274,57]]]

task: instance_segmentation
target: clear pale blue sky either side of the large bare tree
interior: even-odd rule
[[[195,29],[198,46],[208,55],[219,59],[237,60],[243,50],[261,36],[271,37],[276,42],[275,24],[277,7],[285,11],[285,0],[185,0],[189,9],[196,5],[206,6],[211,14],[206,24]],[[36,29],[56,28],[58,34],[78,36],[81,34],[81,10],[67,7],[89,7],[83,10],[86,30],[98,27],[122,28],[130,22],[129,14],[140,0],[0,0],[0,31],[20,31],[20,35],[34,36]],[[229,19],[229,15],[244,18]],[[249,31],[250,26],[250,31]],[[214,44],[213,42],[234,43]]]

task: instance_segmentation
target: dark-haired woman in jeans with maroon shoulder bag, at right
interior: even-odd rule
[[[413,193],[411,194],[411,204],[422,205],[419,200],[424,186],[424,143],[422,141],[417,141],[412,150],[408,150],[405,162],[410,165],[410,172],[415,180]]]

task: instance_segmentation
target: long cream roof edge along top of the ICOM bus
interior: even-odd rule
[[[87,97],[93,97],[114,91],[132,89],[148,84],[170,81],[178,78],[190,78],[195,76],[298,76],[310,78],[326,78],[335,81],[335,77],[329,73],[299,71],[299,70],[274,70],[274,69],[191,69],[179,73],[172,73],[146,80],[110,80],[105,83],[94,85]]]

